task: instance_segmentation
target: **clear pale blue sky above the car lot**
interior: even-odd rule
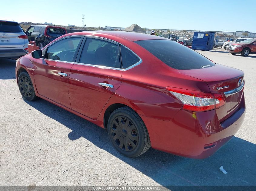
[[[27,4],[25,3],[27,2]],[[256,33],[255,0],[44,0],[5,1],[0,19],[87,27],[249,31]]]

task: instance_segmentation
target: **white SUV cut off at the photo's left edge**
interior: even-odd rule
[[[15,21],[0,19],[0,58],[17,59],[28,53],[28,37]]]

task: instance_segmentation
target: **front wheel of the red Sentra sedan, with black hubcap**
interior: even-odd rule
[[[23,99],[28,101],[36,100],[35,90],[27,72],[20,73],[18,77],[18,87]]]

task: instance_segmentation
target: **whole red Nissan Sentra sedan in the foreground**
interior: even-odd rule
[[[15,72],[25,100],[41,97],[107,128],[128,157],[152,147],[207,158],[245,116],[244,72],[154,35],[69,33],[18,59]]]

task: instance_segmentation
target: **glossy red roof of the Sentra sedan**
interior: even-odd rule
[[[97,31],[84,31],[76,33],[68,33],[65,36],[70,35],[91,35],[97,37],[104,37],[111,40],[169,40],[164,37],[158,37],[155,35],[145,34],[145,33],[135,33],[135,32],[125,32],[125,31],[112,31],[112,30],[97,30]]]

